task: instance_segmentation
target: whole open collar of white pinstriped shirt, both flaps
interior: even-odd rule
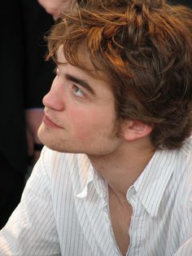
[[[190,139],[191,143],[191,139]],[[188,147],[186,147],[188,146]],[[172,177],[172,173],[176,170],[177,157],[179,152],[184,152],[185,156],[189,153],[189,145],[185,145],[181,150],[157,150],[151,161],[147,164],[142,174],[127,192],[127,198],[137,192],[139,200],[145,207],[146,211],[155,217],[158,214],[159,205],[164,196],[164,191]],[[89,162],[90,163],[90,162]],[[94,184],[98,196],[106,196],[107,183],[89,164],[87,179],[81,192],[76,196],[85,198],[88,195],[89,184]]]

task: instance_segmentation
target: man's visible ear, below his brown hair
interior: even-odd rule
[[[153,127],[146,125],[142,121],[124,121],[122,133],[124,139],[133,141],[150,135],[151,130],[153,130]]]

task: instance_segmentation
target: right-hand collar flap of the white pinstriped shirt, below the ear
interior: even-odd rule
[[[157,150],[133,184],[139,200],[152,217],[158,214],[165,188],[176,168],[176,158],[177,151]]]

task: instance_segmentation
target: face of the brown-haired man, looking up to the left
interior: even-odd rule
[[[68,64],[61,51],[58,60],[65,64],[57,68],[43,99],[45,116],[38,130],[41,142],[59,152],[101,156],[116,151],[120,137],[110,86]]]

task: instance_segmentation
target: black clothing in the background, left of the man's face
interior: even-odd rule
[[[0,228],[20,201],[28,170],[24,109],[41,108],[53,80],[43,37],[54,23],[35,0],[0,8]]]

